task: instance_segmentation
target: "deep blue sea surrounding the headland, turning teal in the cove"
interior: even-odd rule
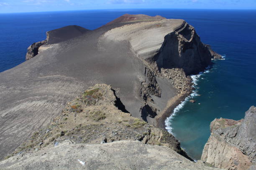
[[[46,31],[67,25],[93,30],[123,15],[161,15],[186,20],[202,42],[225,56],[197,77],[196,102],[184,102],[169,119],[182,148],[200,159],[215,117],[239,120],[256,105],[256,10],[87,10],[0,14],[0,72],[25,61],[26,49]],[[200,104],[199,104],[200,103]],[[171,130],[170,130],[171,129]]]

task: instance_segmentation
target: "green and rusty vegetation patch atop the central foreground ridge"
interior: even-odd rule
[[[93,90],[86,90],[82,95],[82,100],[86,105],[95,105],[96,102],[102,99],[102,93],[99,88]]]

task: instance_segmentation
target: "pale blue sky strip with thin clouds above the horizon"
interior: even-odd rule
[[[256,9],[256,0],[0,0],[0,13],[131,8]]]

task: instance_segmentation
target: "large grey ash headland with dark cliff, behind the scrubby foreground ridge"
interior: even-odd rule
[[[61,40],[48,37],[36,57],[0,73],[1,158],[97,83],[112,85],[133,117],[155,124],[172,97],[191,91],[187,75],[213,56],[184,20],[114,23]]]

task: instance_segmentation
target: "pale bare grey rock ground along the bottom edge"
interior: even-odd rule
[[[0,162],[2,170],[220,170],[194,163],[170,148],[139,141],[76,144],[21,153]]]

